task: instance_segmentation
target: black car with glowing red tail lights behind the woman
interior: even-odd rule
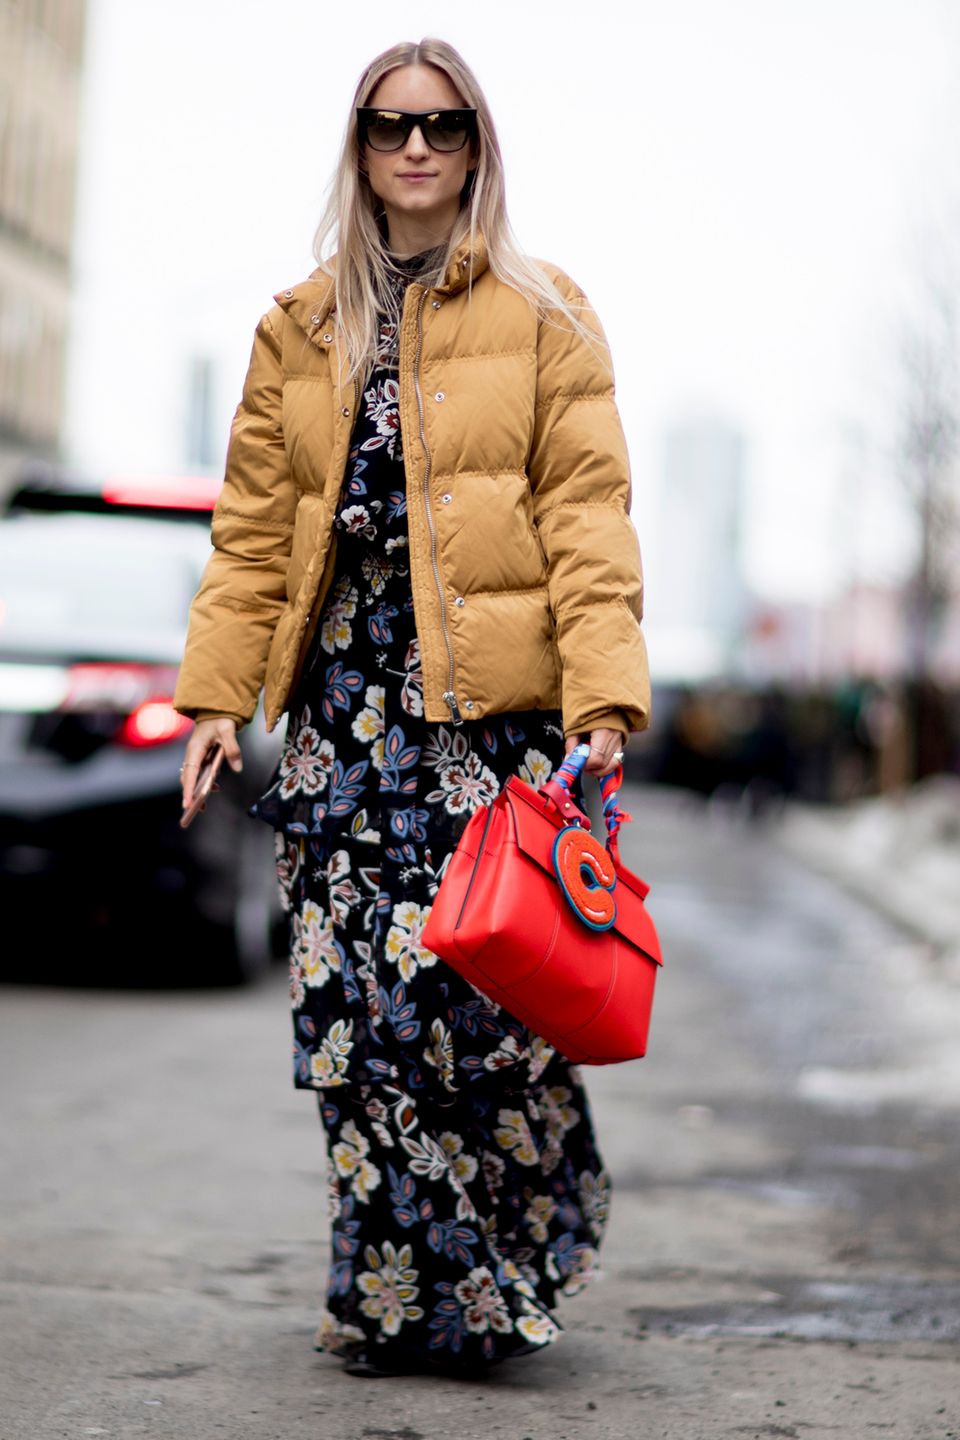
[[[246,815],[281,739],[240,733],[243,773],[187,831],[191,721],[173,708],[210,553],[210,481],[37,472],[0,518],[0,900],[4,978],[249,979],[284,923],[273,838]]]

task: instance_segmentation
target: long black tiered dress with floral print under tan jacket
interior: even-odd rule
[[[456,1368],[556,1339],[609,1182],[576,1070],[423,945],[466,821],[511,773],[541,785],[563,729],[550,711],[423,719],[390,327],[380,341],[334,583],[255,812],[291,919],[294,1083],[318,1092],[330,1152],[317,1346]]]

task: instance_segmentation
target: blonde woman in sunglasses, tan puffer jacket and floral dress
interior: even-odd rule
[[[322,259],[335,235],[335,259]],[[318,269],[256,331],[177,706],[184,804],[265,688],[291,910],[294,1083],[330,1146],[317,1346],[351,1374],[475,1372],[557,1336],[607,1178],[574,1070],[422,943],[510,773],[648,714],[606,346],[507,225],[484,95],[439,40],[364,72]]]

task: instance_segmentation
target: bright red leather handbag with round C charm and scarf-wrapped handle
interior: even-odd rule
[[[646,1053],[661,948],[649,886],[620,863],[622,769],[604,776],[607,844],[571,798],[581,744],[543,789],[511,775],[471,816],[423,943],[560,1054],[606,1066]]]

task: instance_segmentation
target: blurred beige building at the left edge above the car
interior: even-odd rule
[[[0,0],[0,487],[60,444],[86,0]]]

